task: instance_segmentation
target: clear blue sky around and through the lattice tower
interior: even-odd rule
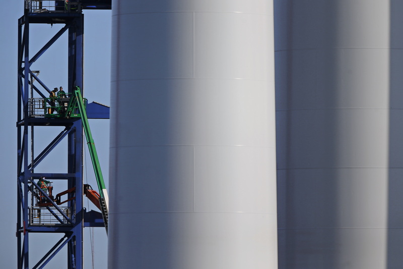
[[[44,1],[48,2],[48,1]],[[3,4],[4,1],[2,2]],[[24,0],[7,1],[7,8],[0,9],[0,78],[2,98],[0,98],[0,146],[2,148],[0,171],[2,171],[3,189],[0,195],[0,261],[2,268],[17,267],[17,46],[18,19],[23,16]],[[110,47],[111,47],[111,11],[84,12],[84,97],[89,102],[97,101],[110,105]],[[32,25],[30,29],[30,55],[39,50],[63,25]],[[63,86],[67,88],[67,37],[63,34],[44,55],[35,62],[31,70],[39,70],[40,78],[48,88]],[[91,132],[99,155],[102,173],[108,188],[109,165],[109,120],[90,120]],[[43,127],[46,128],[46,127]],[[54,138],[58,130],[35,128],[35,150]],[[49,140],[50,139],[50,140]],[[46,163],[35,172],[60,172],[66,162],[63,143],[58,145]],[[91,159],[86,148],[84,182],[96,188]],[[63,191],[60,186],[54,193]],[[58,187],[58,186],[57,186]],[[87,204],[85,198],[84,203]],[[87,208],[96,209],[88,203]],[[107,268],[107,237],[104,228],[85,228],[84,267]],[[46,253],[61,234],[35,234],[30,236],[30,267]],[[39,246],[39,247],[38,247]],[[67,268],[66,248],[64,247],[48,263],[46,268]]]

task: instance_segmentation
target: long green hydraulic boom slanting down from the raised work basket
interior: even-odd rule
[[[95,177],[97,180],[97,185],[98,185],[99,194],[100,194],[99,204],[101,207],[102,218],[103,218],[103,221],[105,224],[106,233],[108,233],[108,193],[106,191],[104,179],[102,176],[101,166],[99,165],[98,154],[97,154],[97,150],[95,148],[94,139],[92,138],[90,125],[88,123],[88,118],[87,118],[87,113],[85,110],[83,96],[81,95],[80,87],[78,87],[78,86],[76,86],[73,96],[69,101],[67,114],[71,110],[71,107],[75,107],[76,104],[80,111],[81,120],[83,122],[83,129],[84,129],[85,137],[87,139],[87,145],[90,150],[92,166],[94,168]]]

